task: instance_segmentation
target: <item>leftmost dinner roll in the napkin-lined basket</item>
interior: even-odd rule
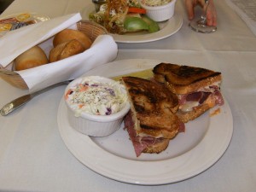
[[[38,46],[26,50],[15,59],[15,70],[20,71],[48,63],[44,50]]]

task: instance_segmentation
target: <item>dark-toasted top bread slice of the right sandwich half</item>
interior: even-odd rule
[[[153,69],[154,79],[165,83],[175,94],[188,94],[203,87],[220,82],[221,73],[201,67],[160,63]]]

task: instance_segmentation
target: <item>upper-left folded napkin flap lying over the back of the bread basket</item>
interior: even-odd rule
[[[27,49],[81,20],[80,14],[64,15],[6,33],[0,38],[0,65],[7,67]]]

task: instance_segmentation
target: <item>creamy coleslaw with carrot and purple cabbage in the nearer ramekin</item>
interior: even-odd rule
[[[125,107],[127,95],[124,85],[119,82],[102,83],[84,79],[68,90],[67,103],[75,110],[75,116],[81,113],[109,115]]]

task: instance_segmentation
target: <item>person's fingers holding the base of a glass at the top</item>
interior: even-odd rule
[[[200,5],[204,10],[207,9],[207,26],[217,26],[217,13],[212,0],[208,1],[208,7],[205,0],[185,0],[185,5],[189,20],[194,19],[195,6]]]

